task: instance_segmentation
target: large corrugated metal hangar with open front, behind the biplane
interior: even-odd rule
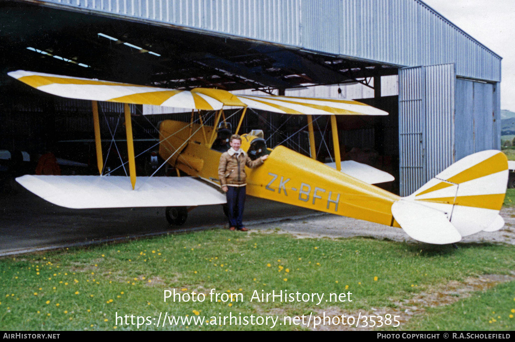
[[[350,95],[390,115],[339,121],[340,141],[390,162],[401,196],[468,154],[500,149],[501,57],[419,0],[7,0],[0,17],[0,149],[33,154],[92,138],[89,102],[6,76],[19,69],[178,89]],[[398,92],[386,86],[391,77]],[[356,86],[368,98],[348,90]],[[114,120],[122,107],[103,110]],[[248,120],[285,121],[267,113]]]

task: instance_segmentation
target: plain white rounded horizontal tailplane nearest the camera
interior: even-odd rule
[[[447,215],[415,202],[400,200],[391,206],[393,217],[402,229],[415,240],[445,245],[461,240]]]

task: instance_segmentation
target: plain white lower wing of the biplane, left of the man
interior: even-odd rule
[[[44,200],[73,209],[194,206],[226,203],[217,189],[192,177],[25,175],[16,178]]]

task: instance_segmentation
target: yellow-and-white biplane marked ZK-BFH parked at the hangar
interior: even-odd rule
[[[223,204],[217,167],[228,149],[227,138],[239,133],[248,108],[289,115],[306,115],[310,156],[282,145],[267,148],[262,131],[242,134],[242,149],[252,158],[263,154],[265,164],[248,169],[251,196],[326,213],[402,228],[410,237],[446,244],[504,225],[499,211],[508,180],[508,163],[500,151],[482,151],[455,162],[407,197],[373,183],[392,178],[374,168],[341,162],[336,116],[387,115],[352,100],[314,99],[274,95],[235,95],[225,90],[190,91],[139,86],[97,79],[14,71],[10,76],[38,90],[73,99],[91,100],[97,164],[100,176],[36,176],[16,178],[22,186],[54,204],[68,208],[165,206],[169,222],[181,224],[187,207]],[[130,177],[102,176],[97,101],[124,103]],[[165,120],[159,127],[159,154],[165,163],[188,176],[138,177],[134,166],[131,113],[128,104],[148,104],[192,110],[190,122]],[[224,109],[241,108],[234,132],[227,129]],[[213,111],[214,124],[205,124],[195,110]],[[313,117],[330,116],[334,146],[333,165],[315,158]],[[130,182],[128,181],[130,178]]]

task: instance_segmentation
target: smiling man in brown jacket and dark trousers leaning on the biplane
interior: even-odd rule
[[[231,148],[222,153],[220,164],[218,165],[218,177],[222,190],[227,195],[227,207],[229,209],[229,230],[247,232],[243,225],[243,209],[245,207],[246,177],[245,166],[255,168],[263,164],[268,158],[264,155],[256,160],[251,160],[249,156],[240,148],[242,138],[233,134],[229,141]]]

